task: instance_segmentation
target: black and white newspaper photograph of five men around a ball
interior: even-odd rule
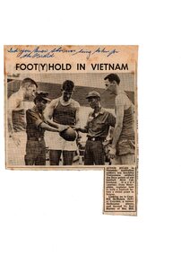
[[[7,165],[135,163],[135,74],[7,76]]]

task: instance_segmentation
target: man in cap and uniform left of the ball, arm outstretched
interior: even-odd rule
[[[26,111],[27,120],[27,144],[26,155],[24,157],[26,165],[46,165],[46,144],[44,140],[45,130],[60,132],[67,126],[60,127],[53,122],[47,122],[43,116],[47,102],[48,93],[38,92],[34,99],[35,106]]]

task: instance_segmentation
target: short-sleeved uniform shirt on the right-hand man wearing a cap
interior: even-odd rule
[[[85,128],[88,132],[88,137],[99,137],[105,139],[108,136],[109,127],[115,127],[116,118],[101,108],[99,113],[90,112]]]

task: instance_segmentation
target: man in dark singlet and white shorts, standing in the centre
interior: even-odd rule
[[[53,119],[60,125],[68,125],[73,128],[80,127],[80,104],[72,99],[74,84],[71,80],[63,83],[63,94],[50,102],[45,110],[45,118]],[[63,153],[63,164],[72,165],[73,156],[77,150],[76,141],[66,141],[63,137],[53,132],[46,132],[46,141],[49,149],[50,165],[59,165],[61,154]]]

